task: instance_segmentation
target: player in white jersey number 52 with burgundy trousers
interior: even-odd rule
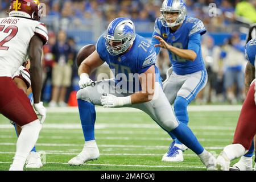
[[[11,0],[9,17],[0,19],[0,113],[22,127],[10,170],[23,170],[38,139],[46,109],[40,102],[42,89],[42,47],[47,43],[47,28],[40,23],[39,1]],[[27,60],[31,61],[31,87],[36,115],[23,90],[12,76]]]

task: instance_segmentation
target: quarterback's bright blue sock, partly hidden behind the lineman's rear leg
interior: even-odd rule
[[[176,118],[179,122],[182,122],[185,125],[188,125],[188,111],[187,111],[188,104],[189,102],[181,96],[178,96],[174,102],[174,111],[175,111]],[[172,137],[172,139],[175,140],[176,137],[174,136]],[[178,139],[176,139],[175,144],[182,144],[182,143]]]

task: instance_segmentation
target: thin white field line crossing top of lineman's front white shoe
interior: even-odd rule
[[[16,146],[16,143],[0,143],[0,146]],[[83,147],[84,144],[71,144],[71,143],[36,143],[36,146],[50,146],[50,147]],[[112,148],[159,148],[168,149],[168,146],[142,146],[142,145],[122,145],[122,144],[98,144],[98,147],[112,147]],[[211,146],[204,147],[210,150],[223,149],[225,146]]]

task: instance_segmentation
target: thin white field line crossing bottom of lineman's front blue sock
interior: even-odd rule
[[[16,138],[9,135],[0,135],[0,138]],[[83,139],[84,137],[40,136],[40,139]],[[145,140],[145,141],[168,141],[170,137],[97,137],[99,140]],[[200,142],[232,142],[232,139],[208,139],[199,138]]]

